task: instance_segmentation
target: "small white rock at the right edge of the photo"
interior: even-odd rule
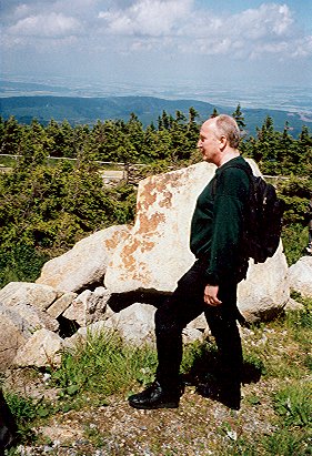
[[[305,297],[312,297],[312,256],[302,256],[289,268],[290,287]]]

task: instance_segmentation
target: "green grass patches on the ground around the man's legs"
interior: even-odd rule
[[[295,297],[304,304],[303,311],[286,313],[273,322],[254,326],[243,337],[244,367],[250,375],[248,382],[256,385],[245,395],[244,404],[256,411],[263,401],[268,402],[272,430],[252,436],[238,434],[238,437],[229,438],[232,425],[224,423],[220,430],[224,442],[218,448],[222,456],[312,454],[309,446],[312,427],[312,301]],[[187,381],[203,376],[207,379],[213,374],[215,363],[218,353],[213,342],[194,343],[184,351],[181,371]],[[157,353],[149,346],[125,345],[114,332],[88,334],[84,343],[63,354],[59,368],[49,371],[48,387],[58,389],[56,401],[32,399],[7,392],[6,399],[17,419],[20,442],[34,442],[33,427],[48,423],[51,416],[61,417],[69,411],[83,411],[90,405],[108,405],[110,397],[124,399],[153,379]],[[263,384],[253,378],[252,373],[258,373]],[[41,374],[34,371],[34,375]],[[268,389],[268,385],[272,386]],[[192,398],[195,405],[197,395]],[[98,427],[87,427],[84,434],[94,448],[103,445]]]

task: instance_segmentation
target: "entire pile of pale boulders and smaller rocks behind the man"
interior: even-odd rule
[[[58,365],[64,347],[101,331],[118,332],[135,345],[154,343],[155,306],[194,261],[188,247],[191,216],[214,170],[199,163],[145,179],[139,185],[132,230],[120,225],[94,233],[46,263],[36,284],[14,282],[2,288],[0,365]],[[264,264],[251,261],[238,293],[249,322],[271,318],[284,308],[290,284],[311,295],[311,262],[302,260],[296,266],[303,271],[298,274],[304,292],[295,284],[295,265],[289,277],[282,245]],[[64,324],[78,331],[69,336]],[[183,341],[208,334],[201,315],[183,331]]]

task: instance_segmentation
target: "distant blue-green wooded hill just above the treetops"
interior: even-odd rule
[[[179,110],[188,115],[189,108],[193,107],[203,121],[210,116],[213,109],[218,112],[231,114],[236,107],[218,107],[198,100],[165,100],[153,97],[108,97],[108,98],[76,98],[76,97],[10,97],[0,99],[0,115],[8,119],[13,115],[20,123],[29,124],[32,119],[37,119],[42,124],[49,123],[51,119],[58,122],[68,120],[74,124],[93,124],[97,120],[107,119],[128,120],[131,112],[134,112],[144,126],[154,122],[165,110],[174,116]],[[241,108],[246,131],[255,133],[255,128],[261,126],[266,115],[274,121],[274,128],[283,131],[288,121],[291,134],[296,138],[302,125],[311,128],[311,118],[303,118],[300,113],[270,109],[244,109]]]

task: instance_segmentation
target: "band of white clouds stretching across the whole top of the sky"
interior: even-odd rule
[[[24,39],[33,49],[52,42],[72,45],[72,52],[92,49],[93,54],[110,49],[115,54],[154,51],[243,60],[312,55],[312,38],[296,28],[293,11],[278,2],[225,14],[199,9],[194,0],[2,1],[4,49],[18,48]]]

